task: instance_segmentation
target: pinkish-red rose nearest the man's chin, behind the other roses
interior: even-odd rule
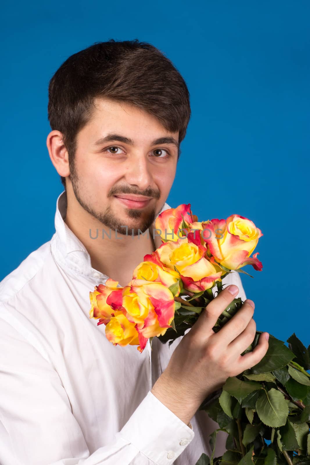
[[[187,229],[194,221],[197,221],[197,216],[191,213],[191,204],[181,204],[160,213],[155,220],[155,227],[160,230],[162,240],[176,241],[182,235],[178,235],[178,230]]]

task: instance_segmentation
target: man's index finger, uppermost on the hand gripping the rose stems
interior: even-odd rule
[[[215,299],[211,300],[199,315],[198,320],[191,328],[191,336],[195,338],[205,338],[210,336],[213,326],[225,308],[235,299],[239,289],[235,285],[227,286]],[[214,331],[212,331],[214,333]]]

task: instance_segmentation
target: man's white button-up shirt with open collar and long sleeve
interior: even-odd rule
[[[106,339],[89,292],[108,277],[64,222],[64,194],[52,239],[0,282],[0,464],[195,465],[218,424],[198,411],[191,429],[151,392],[181,338],[142,353]],[[245,299],[237,272],[224,282]]]

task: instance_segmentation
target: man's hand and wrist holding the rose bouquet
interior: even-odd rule
[[[222,387],[230,376],[256,365],[267,352],[268,333],[264,332],[252,352],[240,355],[256,333],[254,302],[250,299],[217,333],[212,330],[237,293],[237,286],[228,286],[202,310],[152,388],[152,394],[186,425],[208,394]]]

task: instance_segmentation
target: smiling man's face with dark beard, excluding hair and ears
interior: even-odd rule
[[[92,119],[78,133],[67,191],[73,189],[79,204],[106,227],[119,234],[126,234],[121,226],[128,226],[128,235],[144,233],[165,204],[178,161],[178,146],[156,140],[178,144],[178,132],[168,133],[156,118],[128,103],[94,103]],[[139,197],[147,199],[138,202]]]

